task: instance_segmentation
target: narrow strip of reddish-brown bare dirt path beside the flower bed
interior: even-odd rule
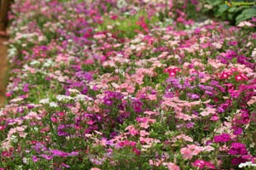
[[[5,79],[8,62],[7,47],[4,45],[4,42],[6,42],[7,40],[7,38],[0,37],[0,108],[3,106],[5,101]]]

